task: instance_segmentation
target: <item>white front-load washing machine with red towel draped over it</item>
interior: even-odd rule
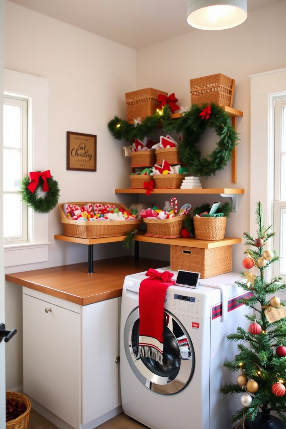
[[[170,271],[176,278],[177,273]],[[201,287],[173,285],[164,303],[163,364],[138,357],[138,291],[146,272],[128,275],[123,284],[120,321],[120,383],[123,411],[152,429],[230,429],[241,408],[238,395],[220,389],[237,374],[223,367],[237,354],[227,341],[237,326],[247,329],[246,308],[236,302],[250,296],[228,273],[200,280]],[[152,296],[150,296],[152,300]],[[243,392],[242,392],[243,393]]]

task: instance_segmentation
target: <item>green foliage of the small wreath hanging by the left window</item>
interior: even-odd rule
[[[41,177],[39,178],[39,183],[33,193],[27,188],[28,184],[30,183],[29,177],[25,176],[21,181],[22,199],[24,202],[26,202],[28,207],[33,208],[33,210],[37,211],[38,213],[48,213],[49,211],[53,210],[53,208],[56,207],[60,196],[60,189],[53,176],[47,178],[46,180],[49,190],[44,198],[39,197],[38,195],[38,189],[44,183]]]

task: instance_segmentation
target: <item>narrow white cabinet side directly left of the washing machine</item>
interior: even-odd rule
[[[82,330],[82,424],[118,407],[118,298],[85,305]]]

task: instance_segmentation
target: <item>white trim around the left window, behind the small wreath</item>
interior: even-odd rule
[[[48,166],[48,79],[4,69],[4,96],[28,100],[28,158],[30,171]],[[4,266],[48,261],[48,214],[28,208],[28,242],[4,245]]]

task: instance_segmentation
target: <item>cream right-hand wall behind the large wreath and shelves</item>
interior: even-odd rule
[[[238,118],[237,183],[231,182],[231,163],[215,176],[202,179],[203,187],[236,187],[245,190],[238,195],[238,211],[227,219],[226,236],[241,237],[250,228],[250,168],[263,175],[259,165],[250,165],[250,75],[286,66],[285,18],[286,1],[275,3],[248,13],[247,20],[238,27],[221,31],[193,30],[190,33],[154,43],[137,51],[137,88],[157,88],[168,94],[175,92],[179,106],[190,106],[190,79],[223,73],[235,79],[233,107],[241,110]],[[162,31],[168,28],[162,25]],[[210,154],[216,135],[211,133],[212,146],[202,139],[202,154]],[[256,201],[263,199],[265,189],[256,189]],[[154,196],[153,196],[154,197]],[[142,200],[146,200],[141,197]],[[221,201],[220,195],[180,196],[179,201],[193,207],[203,202]],[[231,199],[227,199],[231,202]],[[164,203],[164,198],[154,199]],[[254,204],[254,202],[252,202]],[[252,207],[255,207],[252,205]],[[255,210],[255,208],[254,208]],[[255,235],[255,231],[251,231]],[[148,246],[140,243],[141,252],[167,256],[169,246]],[[168,249],[167,249],[168,248]],[[233,271],[240,272],[244,258],[244,243],[233,246]]]

